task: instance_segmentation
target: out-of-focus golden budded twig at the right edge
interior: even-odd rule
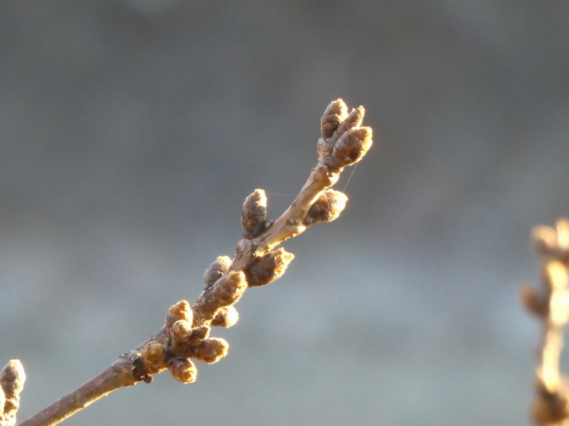
[[[531,239],[542,259],[541,290],[521,288],[523,305],[543,323],[540,365],[536,371],[537,398],[531,415],[537,425],[565,424],[569,419],[569,387],[559,371],[563,330],[569,322],[569,221],[555,229],[536,226]]]

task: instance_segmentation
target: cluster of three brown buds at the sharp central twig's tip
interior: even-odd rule
[[[329,104],[321,118],[321,135],[317,143],[319,162],[330,173],[340,173],[357,163],[372,144],[371,127],[362,127],[365,109],[358,107],[348,113],[341,99]]]

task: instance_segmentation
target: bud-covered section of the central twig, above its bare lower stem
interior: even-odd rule
[[[356,163],[371,147],[371,129],[361,126],[363,114],[363,107],[349,112],[341,99],[326,108],[321,119],[322,137],[317,144],[319,166],[291,206],[300,206],[299,209],[293,213],[289,209],[272,222],[267,220],[264,190],[257,189],[245,198],[241,210],[243,240],[235,258],[220,256],[211,263],[203,276],[203,291],[193,305],[182,300],[170,308],[164,332],[134,354],[134,378],[149,382],[152,374],[168,369],[176,380],[191,383],[196,380],[192,359],[211,364],[225,356],[227,342],[209,337],[210,327],[235,324],[238,312],[234,305],[245,290],[277,280],[294,258],[292,253],[274,249],[276,245],[267,244],[264,239],[272,236],[280,243],[309,225],[331,222],[344,209],[346,195],[329,186],[344,167]],[[314,182],[315,190],[311,187]],[[296,204],[298,200],[302,201]],[[264,250],[260,249],[263,244]]]

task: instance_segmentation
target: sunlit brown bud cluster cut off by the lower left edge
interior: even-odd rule
[[[16,412],[20,407],[20,393],[26,374],[18,359],[12,359],[0,371],[0,425],[16,424]]]

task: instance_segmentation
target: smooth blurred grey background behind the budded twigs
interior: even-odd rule
[[[294,199],[342,97],[375,135],[350,202],[214,330],[228,357],[65,425],[529,424],[539,329],[516,287],[538,278],[531,227],[569,215],[568,22],[567,1],[2,2],[19,418],[194,300],[243,199],[264,188],[272,218]]]

